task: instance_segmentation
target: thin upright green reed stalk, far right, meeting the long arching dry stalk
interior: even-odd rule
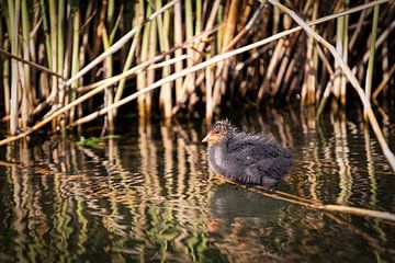
[[[372,23],[372,34],[370,38],[370,49],[369,49],[369,62],[368,62],[368,71],[365,79],[365,94],[368,101],[371,99],[372,93],[372,80],[373,80],[373,71],[374,71],[374,52],[375,52],[375,41],[377,36],[377,24],[379,24],[379,5],[374,7],[373,11],[373,23]],[[368,122],[368,107],[363,110],[363,118]]]

